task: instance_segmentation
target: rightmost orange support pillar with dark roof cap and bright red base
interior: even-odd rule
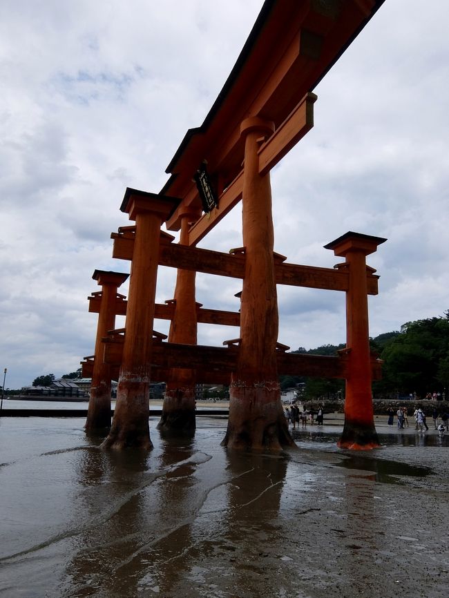
[[[335,255],[345,258],[349,270],[346,292],[347,378],[345,393],[345,425],[338,446],[354,450],[379,447],[374,427],[370,332],[368,325],[366,255],[374,253],[385,242],[381,237],[348,232],[325,245]]]

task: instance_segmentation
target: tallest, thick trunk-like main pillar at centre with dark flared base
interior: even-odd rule
[[[242,236],[246,266],[240,306],[240,349],[231,377],[229,422],[223,445],[232,448],[294,446],[280,403],[276,365],[278,303],[269,173],[259,174],[258,148],[274,124],[242,122],[245,137]]]

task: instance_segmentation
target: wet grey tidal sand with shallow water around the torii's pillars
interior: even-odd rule
[[[155,423],[117,454],[81,418],[0,421],[0,597],[448,595],[447,433],[381,417],[353,454],[329,418],[264,456],[220,447],[223,418],[191,441]]]

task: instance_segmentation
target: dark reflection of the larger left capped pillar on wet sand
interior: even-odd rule
[[[66,566],[61,596],[97,595],[97,592],[120,591],[124,557],[140,546],[144,528],[141,493],[151,485],[157,474],[147,471],[148,455],[129,451],[103,452],[91,450],[80,459],[79,483],[84,492],[79,495],[80,512],[92,523],[80,533],[72,545],[75,557]],[[133,576],[127,581],[128,591],[135,592]],[[131,594],[130,594],[131,595]]]

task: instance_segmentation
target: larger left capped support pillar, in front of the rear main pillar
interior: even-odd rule
[[[160,226],[178,202],[173,197],[126,189],[120,208],[135,220],[135,241],[117,401],[111,431],[102,448],[153,447],[149,383]]]

